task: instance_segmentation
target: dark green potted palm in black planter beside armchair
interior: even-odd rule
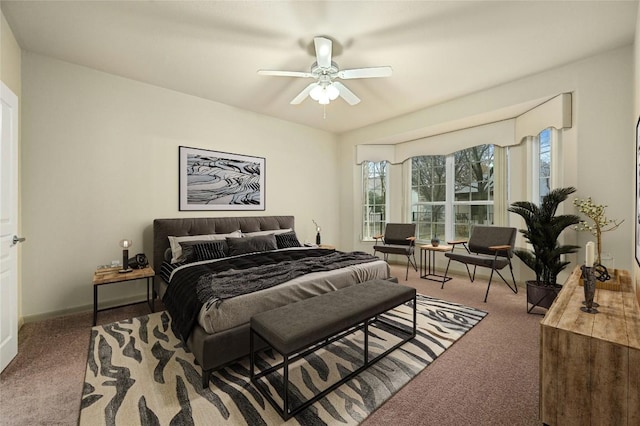
[[[536,274],[536,279],[527,281],[527,302],[533,306],[549,308],[562,288],[556,280],[558,274],[570,263],[562,255],[575,253],[578,246],[560,244],[562,231],[580,222],[576,215],[556,215],[558,206],[570,194],[573,187],[558,188],[542,198],[539,206],[530,201],[516,201],[509,211],[522,217],[527,229],[520,229],[531,249],[515,249],[514,254]]]

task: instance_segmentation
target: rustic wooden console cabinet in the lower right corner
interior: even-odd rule
[[[580,267],[540,323],[540,420],[547,425],[640,424],[640,307],[628,271],[621,291],[580,307]]]

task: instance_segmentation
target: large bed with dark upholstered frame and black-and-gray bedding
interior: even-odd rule
[[[262,244],[263,241],[271,244],[271,240],[275,239],[276,235],[279,237],[275,250],[265,249],[260,250],[260,253],[254,253],[251,250],[247,251],[245,247],[247,243]],[[171,314],[172,323],[176,326],[175,330],[181,335],[201,366],[203,386],[208,386],[211,371],[249,354],[251,315],[360,282],[392,279],[388,264],[369,254],[297,247],[295,244],[292,244],[293,246],[284,244],[281,247],[280,242],[288,241],[291,235],[295,237],[293,216],[154,220],[153,266],[157,272],[154,290],[162,298]],[[243,253],[242,250],[227,252],[214,260],[202,260],[202,257],[196,256],[196,261],[193,262],[177,261],[178,259],[174,257],[176,240],[180,247],[185,249],[184,253],[181,253],[184,257],[187,250],[190,250],[189,253],[192,255],[194,248],[202,247],[200,239],[204,236],[207,239],[214,238],[228,242],[227,249],[245,247],[244,250],[247,252]],[[236,238],[239,239],[236,240]],[[294,240],[297,242],[297,239],[294,238]],[[194,246],[190,247],[189,244]],[[215,244],[217,243],[209,246]],[[247,262],[257,262],[257,264]],[[332,262],[335,262],[335,265],[329,266]],[[322,268],[320,268],[321,272],[318,272],[317,265],[320,263]],[[228,277],[231,274],[230,269],[240,268],[238,265],[245,268],[245,264],[253,267],[253,269],[244,270],[243,273],[248,275]],[[310,264],[313,268],[308,266]],[[251,275],[256,271],[261,274],[264,271],[273,271],[274,275],[284,276],[281,265],[282,268],[287,265],[287,268],[293,269],[287,272],[293,277],[292,279],[275,285],[268,283],[269,287],[262,288],[267,284],[258,282],[260,280],[253,279]],[[223,282],[223,278],[229,279],[231,284],[235,283],[227,287],[232,290],[240,287],[237,285],[238,280],[246,278],[246,282],[251,283],[249,287],[253,286],[255,291],[231,296],[223,292],[222,296],[217,294],[208,299],[207,303],[196,302],[195,306],[191,306],[195,296],[191,295],[191,290],[184,290],[186,288],[184,286],[188,286],[191,282],[198,291],[209,291],[207,286],[209,281],[212,282],[212,286],[217,286]],[[206,291],[204,294],[208,295]],[[191,308],[184,309],[185,306]],[[176,325],[175,323],[178,322],[180,324]]]

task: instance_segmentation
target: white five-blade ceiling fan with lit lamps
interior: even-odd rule
[[[354,78],[391,76],[392,70],[389,66],[340,70],[338,64],[331,61],[333,42],[325,37],[315,37],[313,43],[316,51],[316,62],[311,65],[310,72],[258,70],[258,74],[260,75],[315,79],[315,81],[305,87],[298,96],[293,98],[291,101],[292,105],[301,103],[308,96],[321,105],[329,104],[329,102],[337,99],[338,96],[341,96],[349,105],[356,105],[360,102],[360,98],[344,84],[336,81],[337,79],[349,80]]]

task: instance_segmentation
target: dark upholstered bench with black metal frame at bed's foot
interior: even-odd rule
[[[382,314],[409,301],[413,301],[412,329],[397,327],[395,324],[385,321]],[[278,411],[280,416],[287,420],[415,337],[415,302],[416,290],[414,288],[384,280],[373,280],[257,314],[251,318],[251,382]],[[374,322],[383,322],[386,327],[397,329],[406,337],[385,352],[369,359],[369,326]],[[363,365],[297,407],[289,407],[290,363],[361,329],[364,331]],[[254,351],[258,347],[255,342],[256,338],[262,339],[268,346],[280,353],[283,361],[256,372],[255,356],[257,352]],[[283,397],[282,408],[259,380],[280,368],[283,369],[284,376],[281,393]]]

